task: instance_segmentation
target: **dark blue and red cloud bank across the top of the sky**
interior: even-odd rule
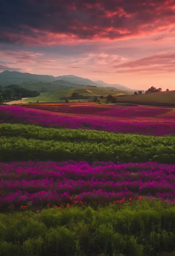
[[[174,7],[174,0],[1,0],[0,41],[48,45],[150,34],[175,23]]]

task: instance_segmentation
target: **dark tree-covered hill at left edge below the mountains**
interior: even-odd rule
[[[0,86],[0,102],[10,99],[38,97],[39,95],[39,92],[28,90],[19,85]]]

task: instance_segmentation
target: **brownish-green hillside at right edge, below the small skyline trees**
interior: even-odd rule
[[[117,97],[117,102],[135,103],[138,105],[175,107],[175,91],[120,96]]]

